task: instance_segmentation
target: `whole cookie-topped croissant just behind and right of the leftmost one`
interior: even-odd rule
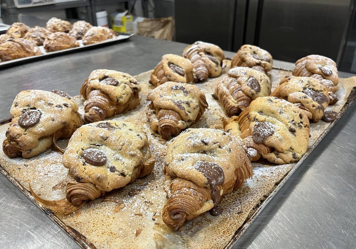
[[[80,88],[84,97],[84,120],[87,123],[104,120],[136,108],[140,104],[141,87],[130,74],[98,69],[91,72]]]

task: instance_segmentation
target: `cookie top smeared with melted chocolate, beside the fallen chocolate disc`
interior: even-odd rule
[[[284,78],[271,96],[287,99],[291,103],[301,103],[312,113],[313,121],[318,121],[324,116],[324,110],[330,101],[325,86],[319,80],[310,77]]]

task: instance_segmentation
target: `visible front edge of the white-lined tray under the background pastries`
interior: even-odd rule
[[[107,45],[110,45],[113,43],[124,42],[124,41],[127,41],[128,39],[130,39],[131,36],[133,36],[133,35],[121,33],[121,34],[117,35],[116,38],[107,39],[105,41],[95,43],[95,44],[89,44],[89,45],[84,45],[82,40],[78,40],[79,47],[67,48],[67,49],[62,49],[62,50],[53,51],[53,52],[46,52],[45,49],[43,48],[43,46],[38,46],[40,48],[40,51],[42,54],[23,57],[23,58],[14,59],[14,60],[7,60],[6,62],[2,62],[0,60],[0,69],[6,68],[9,66],[23,64],[26,62],[31,62],[34,60],[41,60],[41,59],[45,59],[45,58],[49,58],[49,57],[54,57],[54,56],[57,56],[60,54],[74,53],[74,52],[78,52],[78,51],[107,46]]]

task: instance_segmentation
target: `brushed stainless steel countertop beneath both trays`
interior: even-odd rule
[[[94,69],[136,75],[186,44],[132,37],[129,42],[61,55],[0,70],[0,120],[25,89],[78,95]],[[226,52],[227,57],[234,53]],[[275,60],[276,67],[293,68]],[[339,73],[340,77],[351,74]],[[234,248],[356,248],[356,102],[295,171]],[[0,174],[0,248],[80,248]]]

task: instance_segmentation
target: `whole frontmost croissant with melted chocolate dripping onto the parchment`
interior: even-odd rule
[[[168,201],[162,219],[178,229],[201,213],[221,213],[221,197],[239,189],[252,169],[245,147],[216,129],[187,129],[168,143],[164,173]]]

